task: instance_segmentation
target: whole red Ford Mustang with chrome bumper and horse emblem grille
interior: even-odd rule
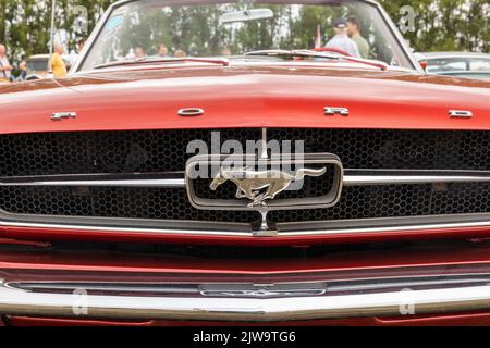
[[[0,87],[1,322],[490,324],[489,100],[373,1],[118,2]]]

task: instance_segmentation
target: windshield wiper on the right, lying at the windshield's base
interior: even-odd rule
[[[311,50],[261,50],[261,51],[253,51],[244,53],[244,55],[267,55],[267,57],[304,57],[304,58],[321,58],[321,59],[331,59],[331,60],[344,60],[347,62],[365,64],[369,66],[376,66],[381,69],[382,71],[388,70],[388,65],[385,63],[379,61],[372,61],[362,58],[347,57],[339,53],[330,53],[330,52],[317,52]]]

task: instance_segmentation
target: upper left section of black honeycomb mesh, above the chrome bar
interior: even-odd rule
[[[259,139],[259,129],[220,130],[221,144]],[[183,172],[192,140],[211,130],[37,133],[0,136],[0,176]]]

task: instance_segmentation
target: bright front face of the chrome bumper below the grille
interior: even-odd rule
[[[490,309],[490,286],[313,297],[210,298],[188,295],[81,297],[0,285],[0,313],[46,318],[282,322],[482,309]]]

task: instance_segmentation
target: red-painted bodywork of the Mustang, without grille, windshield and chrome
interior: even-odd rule
[[[191,66],[189,66],[191,65]],[[417,71],[339,62],[175,63],[147,64],[78,72],[66,79],[27,82],[0,87],[0,136],[139,129],[208,128],[342,128],[490,130],[490,83],[429,76]],[[328,104],[348,108],[348,117],[326,117]],[[182,117],[177,111],[199,108],[206,113]],[[56,112],[76,110],[76,119],[53,122]],[[473,117],[450,117],[449,110],[470,110]],[[298,116],[301,115],[301,116]],[[3,149],[2,151],[8,151]],[[83,154],[81,154],[83,156]],[[490,224],[466,227],[387,228],[345,234],[306,236],[208,235],[0,224],[0,279],[32,284],[66,282],[311,282],[322,277],[455,276],[488,272],[490,257],[485,238]],[[479,238],[478,240],[476,238]],[[424,243],[424,239],[429,241]],[[453,241],[448,241],[449,239]],[[455,240],[455,241],[454,241]],[[188,248],[271,248],[305,250],[315,245],[353,249],[315,257],[203,258],[184,254],[142,254],[101,249],[73,251],[84,243],[167,244]],[[397,243],[411,241],[409,245]],[[70,248],[59,247],[70,243]],[[395,249],[357,250],[355,245],[379,243]],[[354,245],[354,247],[353,247]],[[7,248],[10,246],[10,248]],[[72,248],[72,249],[71,249]],[[327,247],[328,248],[328,247]],[[338,249],[335,249],[338,250]],[[380,251],[381,250],[381,251]],[[64,283],[63,283],[64,282]],[[24,285],[25,285],[24,284]],[[23,285],[23,286],[24,286]],[[223,316],[176,315],[158,312],[124,316],[91,312],[74,318],[54,307],[38,311],[3,298],[0,313],[10,325],[172,325],[230,324]],[[4,293],[8,295],[9,293]],[[17,300],[17,299],[16,299]],[[461,304],[461,303],[460,303]],[[267,321],[298,325],[454,325],[490,324],[490,300],[468,299],[460,307],[420,307],[413,315],[352,312],[348,315],[278,315],[259,320],[237,316],[234,323]],[[91,308],[90,308],[91,310]],[[127,314],[128,312],[126,312]],[[204,322],[206,320],[206,322]],[[307,320],[307,321],[305,321]]]

